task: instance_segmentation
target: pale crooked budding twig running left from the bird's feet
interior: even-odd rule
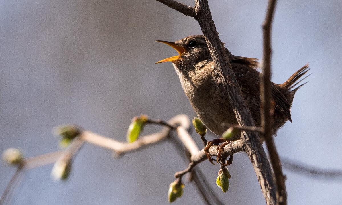
[[[158,124],[165,126],[162,131],[155,133],[155,134],[150,134],[150,135],[141,137],[139,140],[133,143],[119,142],[119,141],[101,136],[91,131],[80,130],[80,135],[71,141],[70,145],[68,146],[66,150],[43,154],[43,155],[25,159],[23,163],[19,165],[15,175],[12,177],[8,187],[3,193],[0,204],[3,205],[5,201],[9,200],[11,193],[13,193],[13,187],[15,187],[16,184],[18,184],[19,176],[21,176],[21,174],[23,173],[25,169],[30,169],[30,168],[35,168],[38,166],[50,164],[50,163],[55,163],[56,161],[69,164],[73,156],[81,148],[84,142],[92,143],[92,144],[101,146],[103,148],[113,150],[117,153],[137,151],[148,145],[153,145],[153,144],[156,144],[157,142],[162,141],[163,139],[166,139],[169,136],[170,129],[171,128],[174,129],[174,126],[180,125],[176,128],[176,133],[179,136],[179,139],[182,145],[184,145],[185,149],[191,155],[190,166],[189,166],[190,168],[184,171],[183,174],[185,174],[188,171],[191,171],[192,168],[196,164],[202,161],[205,161],[207,159],[207,156],[204,150],[200,151],[198,149],[193,138],[190,136],[189,132],[187,131],[190,126],[190,120],[188,116],[177,115],[173,117],[172,119],[170,119],[167,123],[163,122],[163,123],[158,123]],[[232,153],[242,151],[242,142],[240,140],[234,141],[233,143],[226,145],[223,150],[224,150],[223,155],[230,155]],[[212,146],[209,150],[209,153],[211,155],[217,155],[217,146]],[[197,183],[199,183],[199,179],[197,179],[196,181]],[[201,189],[201,187],[199,187],[199,189]],[[206,197],[208,198],[209,196],[206,196]],[[217,196],[211,196],[211,197],[214,198],[214,201],[217,201],[220,203]]]

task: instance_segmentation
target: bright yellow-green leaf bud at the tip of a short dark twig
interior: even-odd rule
[[[141,132],[144,130],[147,121],[147,115],[140,115],[139,117],[134,117],[132,119],[132,123],[129,125],[127,130],[127,142],[132,143],[139,138]]]

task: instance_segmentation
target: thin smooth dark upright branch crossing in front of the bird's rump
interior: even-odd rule
[[[263,28],[263,63],[260,75],[260,99],[261,99],[261,128],[266,139],[266,146],[273,166],[277,185],[277,204],[287,204],[285,178],[282,173],[281,162],[272,137],[271,110],[271,27],[274,17],[276,0],[269,0]]]

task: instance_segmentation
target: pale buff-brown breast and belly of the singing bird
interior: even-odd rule
[[[213,62],[199,63],[195,67],[188,75],[179,71],[177,74],[197,116],[208,129],[221,136],[226,130],[222,123],[237,123],[232,106],[218,81]]]

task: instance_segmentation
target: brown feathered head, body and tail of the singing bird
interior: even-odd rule
[[[193,46],[194,42],[190,44],[191,41],[195,41],[196,46]],[[203,36],[196,35],[176,41],[175,44],[184,48],[180,58],[172,61],[184,92],[203,123],[212,132],[221,136],[226,130],[221,126],[222,123],[237,124],[237,121],[207,43]],[[255,126],[260,126],[260,79],[257,59],[232,55],[228,49],[226,55],[248,103]],[[276,133],[287,120],[292,122],[290,108],[294,93],[300,86],[294,89],[293,87],[308,70],[308,65],[305,65],[284,84],[272,83],[273,133]]]

